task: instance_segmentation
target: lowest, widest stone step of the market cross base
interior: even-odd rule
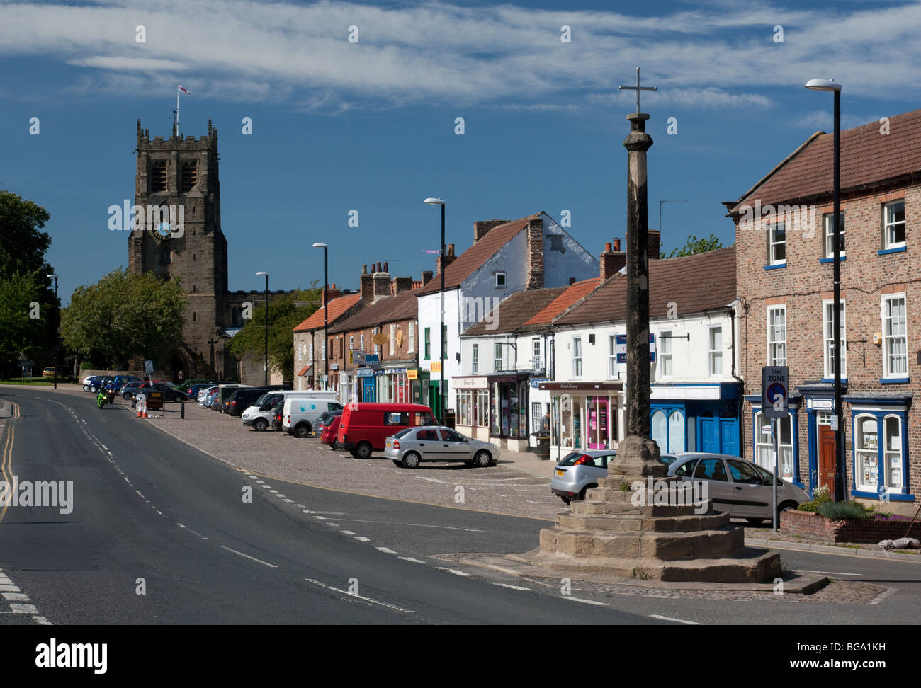
[[[716,583],[767,583],[780,577],[780,555],[743,547],[730,556],[705,556],[683,561],[664,561],[642,556],[570,556],[534,549],[508,555],[514,561],[565,574],[612,576],[641,580]]]

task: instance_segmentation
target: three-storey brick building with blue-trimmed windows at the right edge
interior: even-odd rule
[[[817,132],[727,201],[736,223],[744,455],[769,464],[764,365],[787,365],[781,473],[834,489],[833,135]],[[841,340],[845,485],[914,512],[921,488],[921,110],[842,132]]]

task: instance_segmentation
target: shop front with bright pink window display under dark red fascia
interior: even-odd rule
[[[550,393],[551,458],[579,449],[616,449],[624,428],[621,382],[545,383]]]

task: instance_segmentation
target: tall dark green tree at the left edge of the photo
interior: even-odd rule
[[[40,231],[50,217],[0,189],[0,367],[11,367],[20,353],[51,362],[57,304],[45,252],[52,240]]]

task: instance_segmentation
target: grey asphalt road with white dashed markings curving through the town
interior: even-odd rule
[[[255,476],[89,395],[0,398],[15,416],[0,420],[0,479],[73,483],[70,513],[0,511],[0,625],[859,624],[921,611],[917,564],[801,552],[784,553],[792,568],[895,591],[873,605],[561,595],[435,558],[527,551],[545,521]]]

